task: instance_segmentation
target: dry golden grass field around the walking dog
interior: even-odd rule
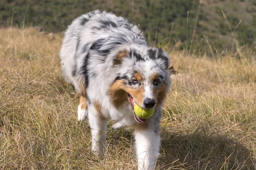
[[[107,131],[107,154],[90,151],[79,98],[61,77],[60,34],[0,29],[0,169],[136,169],[128,128]],[[173,79],[161,119],[157,169],[256,169],[256,59],[170,52]],[[249,53],[249,52],[248,52]],[[255,54],[254,54],[255,56]]]

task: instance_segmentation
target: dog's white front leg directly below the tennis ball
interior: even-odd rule
[[[159,122],[135,129],[138,170],[154,170],[160,147]]]

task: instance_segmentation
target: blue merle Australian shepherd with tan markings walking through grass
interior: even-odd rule
[[[169,55],[150,48],[140,29],[125,18],[96,10],[68,26],[60,57],[64,79],[81,96],[78,120],[88,118],[92,151],[105,154],[107,123],[115,120],[114,128],[134,128],[138,169],[154,169],[162,105],[171,85]],[[154,108],[153,116],[137,117],[135,103]]]

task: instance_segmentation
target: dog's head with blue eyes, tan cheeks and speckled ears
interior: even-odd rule
[[[113,55],[113,81],[109,95],[116,108],[125,102],[143,109],[155,108],[163,100],[171,84],[168,54],[160,48],[122,47]],[[138,122],[145,122],[137,119]]]

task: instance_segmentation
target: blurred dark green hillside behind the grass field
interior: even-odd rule
[[[25,26],[64,31],[80,14],[101,9],[137,24],[148,42],[173,46],[180,41],[180,49],[189,49],[199,4],[200,0],[1,0],[0,26],[21,27],[24,20]],[[202,0],[192,50],[206,52],[211,46],[214,53],[219,53],[226,44],[227,49],[236,49],[221,11],[227,16],[231,30],[236,29],[234,35],[239,45],[254,49],[256,0]]]

